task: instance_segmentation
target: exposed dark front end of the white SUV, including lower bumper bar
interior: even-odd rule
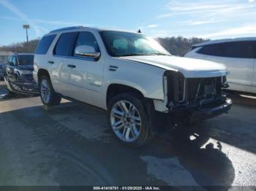
[[[226,113],[232,101],[222,92],[226,77],[184,78],[179,72],[166,71],[166,107],[172,119],[205,120]]]

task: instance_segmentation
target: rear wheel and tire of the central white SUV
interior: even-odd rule
[[[56,106],[61,102],[61,96],[53,90],[48,76],[42,76],[39,79],[39,95],[46,106]]]

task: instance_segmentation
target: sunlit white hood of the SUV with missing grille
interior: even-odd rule
[[[124,60],[147,63],[162,69],[179,71],[184,77],[220,77],[229,74],[225,65],[195,58],[167,55],[139,55],[120,57]]]

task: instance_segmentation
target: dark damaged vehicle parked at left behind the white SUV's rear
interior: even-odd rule
[[[38,86],[33,78],[34,54],[17,53],[8,57],[4,77],[10,91],[37,94]]]

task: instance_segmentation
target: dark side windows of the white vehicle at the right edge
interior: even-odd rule
[[[198,53],[230,58],[256,58],[256,41],[206,45]]]

